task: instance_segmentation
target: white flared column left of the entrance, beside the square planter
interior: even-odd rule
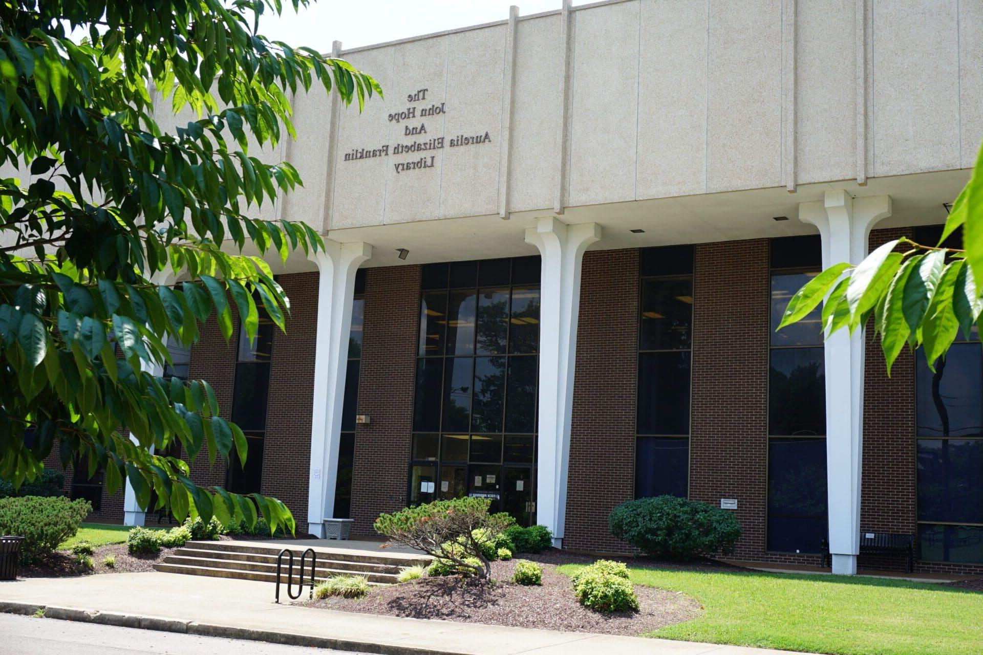
[[[311,422],[311,478],[308,530],[324,537],[323,519],[334,513],[338,477],[341,408],[345,398],[348,337],[352,327],[352,298],[359,264],[372,256],[361,242],[339,244],[324,240],[312,255],[318,263],[318,338],[314,367],[314,408]]]

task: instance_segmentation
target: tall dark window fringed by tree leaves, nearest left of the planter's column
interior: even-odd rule
[[[262,450],[266,436],[266,400],[269,395],[269,362],[273,353],[273,322],[257,300],[260,327],[250,341],[240,324],[236,349],[236,378],[232,392],[232,422],[246,435],[246,465],[230,458],[228,489],[234,493],[260,492]]]

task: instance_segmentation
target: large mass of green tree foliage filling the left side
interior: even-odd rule
[[[361,108],[380,92],[347,62],[260,35],[260,15],[281,10],[280,0],[0,3],[0,167],[20,171],[0,178],[0,477],[33,481],[57,443],[64,464],[88,463],[80,473],[102,465],[110,493],[128,478],[144,507],[152,490],[181,520],[252,525],[259,513],[293,531],[281,502],[201,488],[187,462],[150,452],[180,442],[189,461],[245,462],[246,438],[205,381],[150,371],[170,360],[165,335],[188,347],[212,315],[228,340],[229,298],[251,339],[257,302],[283,328],[289,300],[243,247],[285,260],[323,244],[302,223],[255,218],[301,180],[248,147],[294,136],[288,93],[319,83]],[[155,100],[198,118],[165,133]],[[162,286],[165,275],[185,281]]]

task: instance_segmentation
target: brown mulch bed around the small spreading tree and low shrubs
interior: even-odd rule
[[[412,582],[373,587],[360,600],[326,598],[303,603],[345,612],[362,612],[414,619],[440,619],[469,623],[542,628],[578,632],[638,635],[699,616],[703,610],[693,598],[665,589],[635,585],[639,612],[603,614],[580,605],[573,596],[570,577],[556,571],[557,565],[596,561],[552,550],[542,555],[523,555],[543,566],[542,586],[511,582],[517,560],[492,562],[493,582],[460,576],[424,577]],[[644,566],[645,561],[629,561]],[[652,561],[655,565],[656,562]],[[716,563],[665,565],[681,569],[720,570]]]

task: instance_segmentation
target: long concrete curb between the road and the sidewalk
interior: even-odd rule
[[[36,605],[0,600],[0,612],[4,614],[20,614],[33,616],[37,610],[44,610],[45,619],[76,621],[117,628],[140,628],[158,630],[161,632],[178,632],[181,634],[197,634],[214,636],[225,639],[244,639],[249,641],[264,641],[285,646],[314,646],[333,650],[346,650],[374,655],[467,655],[460,651],[433,650],[414,646],[376,643],[372,641],[353,641],[333,637],[312,636],[294,632],[275,632],[254,628],[235,628],[215,624],[202,624],[196,621],[180,621],[164,617],[145,617],[136,614],[119,614],[116,612],[99,612],[97,610],[80,610],[74,607],[59,607],[57,605]]]

